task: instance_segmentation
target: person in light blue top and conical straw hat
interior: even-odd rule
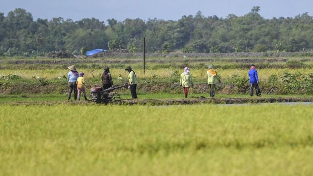
[[[71,94],[72,94],[72,91],[74,89],[74,100],[77,99],[77,84],[76,84],[76,81],[77,81],[77,78],[78,78],[78,72],[75,68],[75,65],[71,65],[69,67],[67,67],[70,71],[69,73],[67,74],[67,81],[69,82],[69,95],[67,97],[68,100],[71,99]]]

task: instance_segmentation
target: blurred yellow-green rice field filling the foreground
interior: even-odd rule
[[[311,106],[2,106],[0,175],[312,175]]]

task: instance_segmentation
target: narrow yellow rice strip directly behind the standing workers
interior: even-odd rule
[[[267,78],[270,75],[283,75],[286,71],[290,73],[300,72],[302,74],[309,74],[313,73],[313,69],[310,68],[300,68],[300,69],[257,69],[259,74],[260,80],[267,80]],[[84,72],[85,79],[88,81],[88,79],[92,79],[93,76],[100,78],[103,70],[102,69],[78,69],[79,72]],[[164,79],[173,76],[173,73],[175,71],[178,72],[178,74],[183,72],[183,69],[177,69],[177,68],[166,68],[166,69],[153,69],[153,70],[146,70],[145,74],[143,73],[143,70],[134,70],[136,72],[136,75],[138,79]],[[191,68],[191,74],[193,77],[195,77],[196,81],[199,82],[205,82],[207,79],[206,75],[206,68],[203,69],[192,69]],[[223,80],[227,80],[231,75],[237,74],[241,77],[248,77],[248,71],[249,69],[217,69],[218,74],[222,77]],[[34,76],[39,76],[41,78],[46,79],[58,79],[58,77],[63,77],[63,75],[67,76],[69,70],[66,69],[45,69],[45,70],[0,70],[0,75],[18,75],[21,76],[24,79],[32,79]],[[119,75],[122,75],[122,77],[125,79],[128,76],[128,72],[125,71],[125,69],[110,69],[110,73],[114,79],[117,80],[117,77]]]

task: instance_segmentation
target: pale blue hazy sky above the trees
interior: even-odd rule
[[[242,16],[253,6],[260,6],[264,18],[295,17],[308,12],[313,16],[313,0],[0,0],[0,12],[5,16],[15,8],[23,8],[37,18],[80,20],[98,18],[105,21],[115,18],[148,18],[177,20],[183,15],[195,15],[198,10],[204,16],[225,18],[229,13]]]

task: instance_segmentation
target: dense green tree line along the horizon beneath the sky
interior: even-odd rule
[[[127,49],[141,52],[146,37],[147,52],[229,53],[299,52],[312,50],[313,17],[303,13],[294,18],[265,19],[260,7],[226,18],[205,17],[200,11],[177,21],[140,18],[105,22],[95,18],[80,21],[63,18],[34,21],[32,14],[16,8],[0,13],[0,55],[44,55],[49,51],[83,54],[88,49]]]

